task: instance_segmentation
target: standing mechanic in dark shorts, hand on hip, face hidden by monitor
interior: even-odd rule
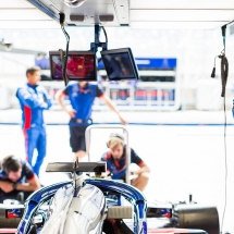
[[[72,110],[67,109],[63,102],[63,97],[67,96]],[[87,82],[70,84],[64,90],[57,93],[57,100],[62,109],[70,115],[70,145],[75,153],[75,159],[83,159],[86,156],[85,130],[91,124],[91,108],[95,98],[101,98],[106,104],[120,118],[121,123],[126,121],[121,116],[112,101],[103,94],[98,85]]]

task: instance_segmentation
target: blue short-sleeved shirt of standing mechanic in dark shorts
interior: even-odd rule
[[[75,119],[77,120],[90,120],[95,98],[103,96],[103,91],[98,85],[89,83],[83,88],[79,87],[78,83],[70,84],[63,94],[69,96],[71,106],[76,111]]]

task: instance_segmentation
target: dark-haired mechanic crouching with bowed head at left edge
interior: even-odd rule
[[[1,161],[0,170],[0,202],[5,199],[19,199],[20,194],[25,200],[33,192],[40,188],[37,175],[32,167],[14,156],[8,156]]]

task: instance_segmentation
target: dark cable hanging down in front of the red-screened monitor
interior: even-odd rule
[[[67,78],[67,75],[66,75],[66,64],[67,64],[67,57],[69,57],[69,45],[70,45],[70,36],[69,34],[66,33],[65,28],[64,28],[64,20],[65,20],[65,14],[64,13],[60,13],[60,25],[61,25],[61,29],[65,36],[65,39],[66,39],[66,49],[65,49],[65,54],[64,54],[64,60],[62,60],[62,71],[63,71],[63,78],[64,78],[64,83],[65,83],[65,86],[69,84],[69,78]]]

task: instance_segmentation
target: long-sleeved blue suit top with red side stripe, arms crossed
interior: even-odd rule
[[[35,126],[44,126],[44,110],[49,109],[51,100],[42,86],[26,84],[19,88],[16,97],[22,109],[23,128],[28,130]]]

